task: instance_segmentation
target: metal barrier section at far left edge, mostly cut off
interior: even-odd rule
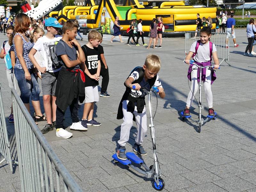
[[[5,122],[5,115],[4,115],[4,104],[3,104],[3,97],[2,97],[2,89],[0,85],[0,154],[4,157],[0,164],[6,161],[10,165],[11,172],[12,169],[12,158],[11,158],[11,149],[10,149],[10,142],[7,134],[7,127]]]

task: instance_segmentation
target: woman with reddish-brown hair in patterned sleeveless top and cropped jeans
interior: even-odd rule
[[[24,13],[17,14],[14,28],[16,34],[13,38],[16,58],[14,74],[19,84],[21,92],[20,98],[28,109],[28,112],[30,112],[29,99],[32,93],[32,105],[35,108],[36,118],[44,121],[46,117],[41,112],[39,102],[40,88],[36,81],[34,66],[28,58],[28,53],[33,47],[32,43],[25,35],[26,31],[29,29],[29,25],[30,19],[28,15]]]

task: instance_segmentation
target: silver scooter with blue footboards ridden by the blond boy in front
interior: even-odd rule
[[[135,89],[135,86],[133,85],[132,88]],[[119,162],[123,165],[128,165],[135,171],[145,175],[147,178],[154,178],[155,180],[154,188],[158,191],[161,191],[164,189],[164,180],[161,178],[161,170],[160,170],[160,166],[159,166],[159,162],[156,154],[155,126],[153,123],[153,116],[151,112],[151,103],[150,103],[150,95],[153,92],[158,92],[159,90],[155,86],[153,87],[153,90],[149,90],[148,88],[144,88],[144,87],[142,87],[141,90],[143,90],[148,95],[148,108],[149,108],[149,116],[150,116],[149,128],[150,128],[150,134],[151,134],[152,145],[153,145],[154,164],[148,167],[142,159],[140,159],[138,156],[136,156],[132,152],[126,153],[126,157],[127,157],[126,160],[118,159],[116,154],[114,154],[112,156],[113,157],[112,163],[116,165]],[[139,169],[138,167],[134,166],[132,163],[140,164],[142,167],[146,169],[146,171]]]

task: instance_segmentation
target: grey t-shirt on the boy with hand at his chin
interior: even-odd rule
[[[58,43],[56,45],[56,55],[58,57],[60,57],[61,55],[67,55],[69,60],[71,60],[71,61],[76,60],[77,59],[77,53],[76,53],[77,47],[76,46],[69,47],[68,44],[66,42],[64,42],[62,39],[60,39],[60,41],[61,41],[61,43]],[[62,59],[60,59],[60,62],[63,67],[68,68],[66,66],[66,64],[62,61]],[[68,69],[73,70],[73,69],[78,69],[78,68],[79,68],[79,65],[76,65],[75,67],[68,68]]]

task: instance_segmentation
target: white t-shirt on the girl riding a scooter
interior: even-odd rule
[[[191,47],[190,50],[191,52],[195,53],[196,52],[196,43],[195,41]],[[215,44],[212,44],[212,52],[217,52]],[[210,43],[202,44],[200,42],[199,47],[197,49],[196,55],[194,57],[194,60],[201,63],[201,62],[207,62],[211,60],[210,58]]]

